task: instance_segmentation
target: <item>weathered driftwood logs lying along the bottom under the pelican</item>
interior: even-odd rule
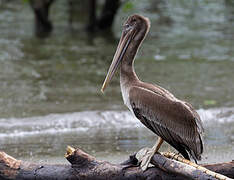
[[[151,163],[155,167],[150,167],[144,172],[139,168],[135,155],[130,156],[122,164],[111,164],[98,161],[80,149],[69,147],[65,157],[71,165],[33,164],[16,160],[0,152],[0,180],[216,179],[203,171],[193,167],[191,170],[188,165],[160,154],[154,155],[152,159]],[[229,177],[220,176],[225,179],[234,178],[234,161],[203,167]]]

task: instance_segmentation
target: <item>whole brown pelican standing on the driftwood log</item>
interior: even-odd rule
[[[149,155],[141,159],[145,170],[151,157],[166,141],[190,160],[201,159],[203,152],[202,122],[193,107],[177,99],[166,89],[142,82],[134,71],[136,53],[150,28],[150,21],[140,15],[130,16],[102,86],[102,92],[120,65],[120,86],[125,105],[151,131],[159,136]]]

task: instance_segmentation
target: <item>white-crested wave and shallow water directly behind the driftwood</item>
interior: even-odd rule
[[[198,112],[206,129],[203,162],[229,161],[234,155],[234,109]],[[156,140],[129,111],[84,111],[0,122],[2,149],[21,158],[28,159],[30,155],[32,161],[62,156],[70,144],[99,158],[119,162],[144,146],[152,146]],[[173,151],[167,145],[162,148],[168,149]],[[56,157],[56,161],[64,160]]]

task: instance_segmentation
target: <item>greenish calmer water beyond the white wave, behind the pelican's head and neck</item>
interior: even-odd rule
[[[220,31],[232,26],[222,19],[222,12],[226,12],[226,7],[220,6],[223,2],[158,1],[150,10],[152,1],[136,4],[134,10],[143,7],[143,14],[152,21],[150,35],[136,61],[139,76],[159,83],[195,107],[206,107],[206,100],[214,100],[216,106],[233,106],[233,85],[229,83],[233,77],[233,42],[223,38],[226,33]],[[54,8],[61,5],[57,2]],[[122,12],[116,19],[117,38],[106,33],[103,38],[79,29],[67,31],[67,20],[59,19],[56,11],[58,17],[52,17],[58,22],[55,31],[50,38],[40,40],[32,34],[33,16],[25,18],[25,14],[31,14],[30,8],[16,2],[7,6],[14,8],[11,13],[6,8],[0,15],[7,19],[1,24],[0,37],[2,117],[124,108],[118,78],[106,96],[100,94],[99,86],[127,14]],[[23,14],[16,16],[22,8]],[[155,11],[160,10],[173,21],[171,25],[158,24]],[[24,24],[18,23],[22,20]]]

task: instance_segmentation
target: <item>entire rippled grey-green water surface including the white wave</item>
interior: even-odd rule
[[[151,30],[135,62],[137,74],[199,109],[206,129],[204,162],[233,159],[232,1],[134,3],[128,12],[120,9],[112,35],[90,36],[82,22],[69,27],[66,3],[57,0],[55,29],[47,39],[34,37],[27,4],[0,5],[0,150],[65,162],[65,148],[73,145],[119,162],[152,146],[155,136],[122,103],[118,77],[105,95],[100,92],[123,21],[141,13],[150,18]]]

